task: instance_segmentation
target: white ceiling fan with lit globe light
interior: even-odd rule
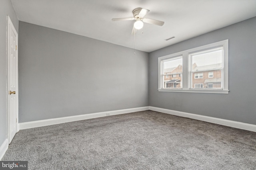
[[[150,10],[142,9],[142,8],[136,8],[132,11],[133,18],[113,18],[112,21],[131,21],[131,20],[136,20],[134,22],[134,26],[132,28],[132,34],[135,34],[138,29],[142,29],[143,23],[150,23],[154,25],[159,25],[163,26],[164,22],[163,21],[158,21],[158,20],[152,20],[148,18],[143,18],[146,14],[148,14]]]

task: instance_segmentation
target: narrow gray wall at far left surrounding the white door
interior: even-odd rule
[[[0,2],[0,145],[7,138],[7,51],[6,51],[6,31],[7,15],[18,32],[19,21],[16,17],[10,0]]]

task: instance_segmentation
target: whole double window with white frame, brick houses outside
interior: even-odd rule
[[[159,57],[158,91],[228,94],[228,40]]]

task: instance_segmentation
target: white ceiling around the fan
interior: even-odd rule
[[[256,16],[256,0],[11,0],[20,21],[42,25],[134,48],[132,10],[150,12],[144,18],[164,21],[144,24],[136,33],[136,49],[146,52],[202,35]],[[165,39],[175,36],[174,39]]]

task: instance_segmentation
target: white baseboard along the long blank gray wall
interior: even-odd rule
[[[60,117],[60,118],[45,119],[45,120],[39,120],[39,121],[30,121],[30,122],[19,123],[19,129],[29,129],[29,128],[33,128],[33,127],[55,125],[55,124],[59,124],[59,123],[92,119],[92,118],[96,118],[96,117],[104,117],[104,116],[107,116],[107,113],[109,113],[109,115],[118,115],[118,114],[124,114],[124,113],[131,113],[131,112],[135,112],[135,111],[144,111],[144,110],[148,110],[148,109],[149,109],[149,106],[146,106],[146,107],[137,107],[137,108],[132,108],[132,109],[104,111],[104,112],[90,113],[90,114],[85,114],[85,115]]]

